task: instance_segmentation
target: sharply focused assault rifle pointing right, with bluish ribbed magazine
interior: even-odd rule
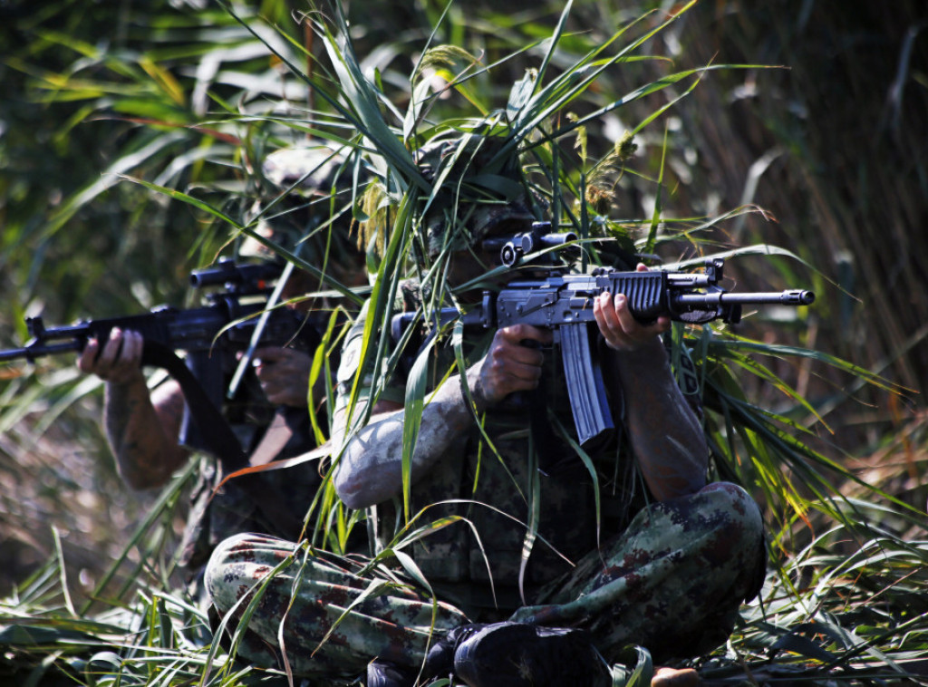
[[[483,292],[483,303],[475,311],[461,314],[443,309],[437,324],[463,318],[465,326],[480,324],[499,329],[530,324],[554,332],[554,344],[561,347],[564,375],[574,411],[574,423],[581,444],[613,428],[602,371],[590,345],[593,300],[602,292],[624,293],[632,315],[642,322],[661,316],[702,324],[714,319],[736,323],[743,305],[809,305],[815,294],[809,291],[732,293],[719,286],[724,260],[706,261],[702,273],[622,272],[598,268],[591,274],[561,274],[551,270],[540,279],[512,281],[500,292]],[[403,313],[393,318],[393,338],[418,317]]]

